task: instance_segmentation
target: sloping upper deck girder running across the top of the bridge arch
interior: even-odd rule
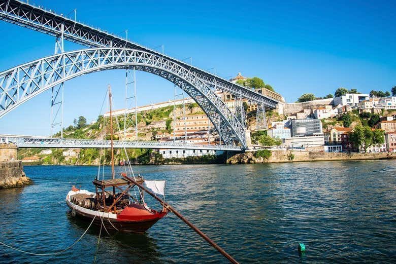
[[[59,36],[63,28],[63,36],[65,40],[88,47],[128,48],[163,56],[163,58],[172,61],[173,63],[188,68],[189,71],[194,73],[197,78],[201,79],[211,87],[242,96],[250,101],[262,103],[271,109],[276,108],[276,105],[281,98],[279,94],[277,94],[277,98],[262,95],[253,90],[215,76],[210,72],[188,65],[175,58],[160,54],[153,49],[143,47],[122,39],[114,34],[110,34],[104,30],[84,25],[65,16],[57,15],[51,11],[46,11],[42,8],[34,7],[17,0],[0,0],[0,19],[53,36]]]

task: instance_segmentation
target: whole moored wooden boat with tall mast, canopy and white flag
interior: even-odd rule
[[[98,173],[92,181],[95,192],[80,190],[72,186],[66,196],[66,203],[72,209],[73,216],[79,216],[95,225],[104,227],[106,231],[144,233],[167,214],[167,208],[163,205],[160,211],[148,207],[144,193],[150,189],[155,194],[164,196],[166,181],[145,180],[140,175],[135,176],[128,161],[126,163],[129,165],[131,175],[121,173],[119,177],[115,177],[110,85],[108,93],[112,177],[105,179],[103,175],[100,179]],[[134,194],[131,193],[132,190],[134,190]]]

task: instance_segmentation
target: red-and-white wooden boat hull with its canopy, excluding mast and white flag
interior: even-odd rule
[[[142,178],[138,178],[137,181],[141,184],[144,182]],[[96,193],[74,187],[66,196],[66,202],[74,215],[89,222],[96,216],[93,223],[98,226],[103,224],[107,230],[144,233],[167,214],[165,208],[158,212],[146,204],[131,201],[129,198],[132,196],[125,195],[125,191],[134,187],[135,184],[127,178],[95,179],[93,184],[96,187]],[[123,185],[128,187],[115,195],[106,191],[108,187],[122,190],[120,186]]]

